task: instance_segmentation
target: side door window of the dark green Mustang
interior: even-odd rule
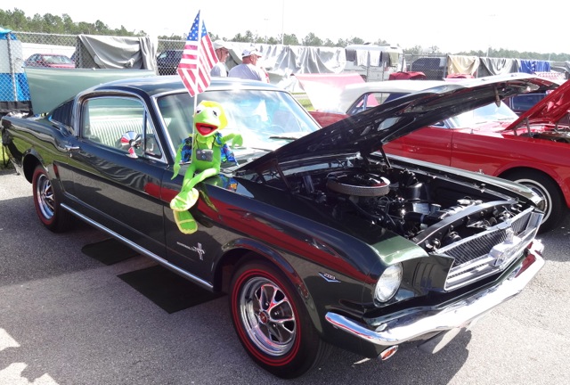
[[[121,140],[123,135],[131,140]],[[135,98],[101,96],[85,101],[81,136],[126,154],[162,156],[151,120],[142,102]]]

